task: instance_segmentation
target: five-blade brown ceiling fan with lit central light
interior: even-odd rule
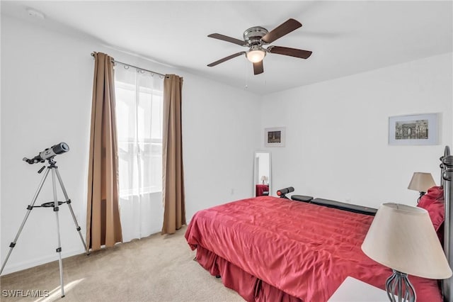
[[[261,26],[255,26],[248,28],[246,31],[243,32],[243,40],[231,38],[226,35],[221,35],[219,33],[212,33],[208,35],[209,38],[224,40],[229,43],[234,43],[237,45],[241,45],[243,47],[248,47],[249,49],[248,51],[236,52],[233,55],[229,55],[228,57],[224,57],[223,59],[212,62],[207,66],[212,67],[227,60],[231,60],[234,57],[239,57],[239,55],[246,55],[247,59],[253,63],[253,74],[261,74],[264,72],[263,59],[267,52],[276,53],[278,55],[289,55],[291,57],[299,57],[302,59],[306,59],[311,55],[311,51],[309,50],[299,50],[296,48],[273,45],[270,45],[268,48],[263,47],[263,45],[273,43],[275,40],[282,38],[282,36],[291,33],[293,30],[301,26],[302,24],[294,19],[289,19],[288,21],[280,24],[280,26],[277,26],[276,28],[270,31]]]

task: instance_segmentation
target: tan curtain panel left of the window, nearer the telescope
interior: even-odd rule
[[[88,250],[122,241],[118,208],[118,157],[113,58],[94,52],[86,242]]]

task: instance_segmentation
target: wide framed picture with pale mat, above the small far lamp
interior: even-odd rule
[[[389,145],[437,145],[437,113],[389,117]]]

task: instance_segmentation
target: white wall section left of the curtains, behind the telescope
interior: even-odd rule
[[[86,174],[93,60],[90,45],[1,16],[1,261],[42,178],[33,157],[57,142],[56,157],[77,219],[85,232]],[[91,69],[91,70],[90,70]],[[50,179],[36,205],[52,201]],[[59,194],[60,200],[64,197]],[[62,254],[83,251],[67,206],[59,211]],[[57,259],[55,213],[30,213],[4,273]],[[84,234],[85,235],[85,234]]]

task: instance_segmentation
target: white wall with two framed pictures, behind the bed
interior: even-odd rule
[[[452,83],[449,53],[265,96],[261,128],[286,126],[287,135],[286,147],[269,149],[273,184],[367,206],[415,205],[413,172],[439,184],[439,157],[452,145]],[[389,116],[418,113],[439,113],[439,145],[388,145]]]

